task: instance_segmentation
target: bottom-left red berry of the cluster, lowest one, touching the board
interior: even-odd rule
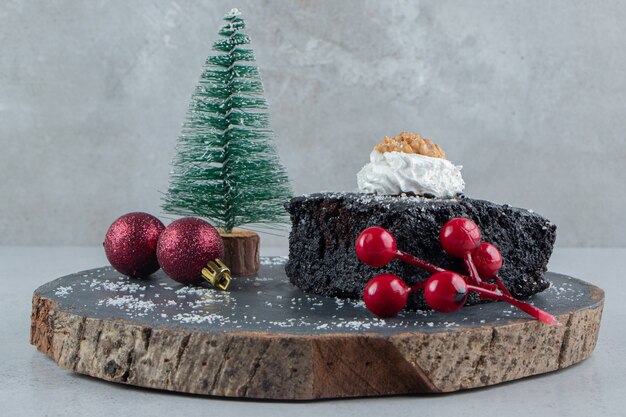
[[[380,274],[372,278],[363,291],[363,301],[369,311],[378,317],[395,316],[404,308],[409,287],[393,274]]]

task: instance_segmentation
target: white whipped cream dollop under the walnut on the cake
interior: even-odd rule
[[[370,162],[357,174],[359,190],[364,193],[454,197],[463,192],[465,182],[460,165],[447,159],[404,152],[374,150]]]

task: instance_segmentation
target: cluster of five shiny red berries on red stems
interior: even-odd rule
[[[382,227],[363,230],[356,241],[356,253],[366,265],[378,268],[397,258],[431,274],[426,281],[412,287],[397,275],[375,276],[367,283],[363,293],[367,308],[379,317],[391,317],[405,307],[411,293],[424,290],[426,303],[433,310],[450,313],[463,307],[470,291],[473,291],[483,299],[506,301],[546,324],[560,325],[551,314],[509,293],[498,277],[502,255],[491,243],[481,243],[476,223],[466,218],[448,221],[441,228],[439,242],[448,254],[463,259],[467,275],[445,270],[398,250],[393,235]]]

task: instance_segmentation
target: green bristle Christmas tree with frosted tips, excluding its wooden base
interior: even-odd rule
[[[284,223],[291,187],[272,142],[245,22],[232,9],[206,59],[176,145],[162,208],[211,220],[226,233],[244,224]]]

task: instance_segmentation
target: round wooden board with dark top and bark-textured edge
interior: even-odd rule
[[[504,303],[381,320],[362,302],[308,295],[263,258],[230,292],[109,267],[33,295],[31,343],[61,368],[142,387],[245,398],[440,393],[566,368],[593,351],[601,289],[548,273],[546,326]]]

